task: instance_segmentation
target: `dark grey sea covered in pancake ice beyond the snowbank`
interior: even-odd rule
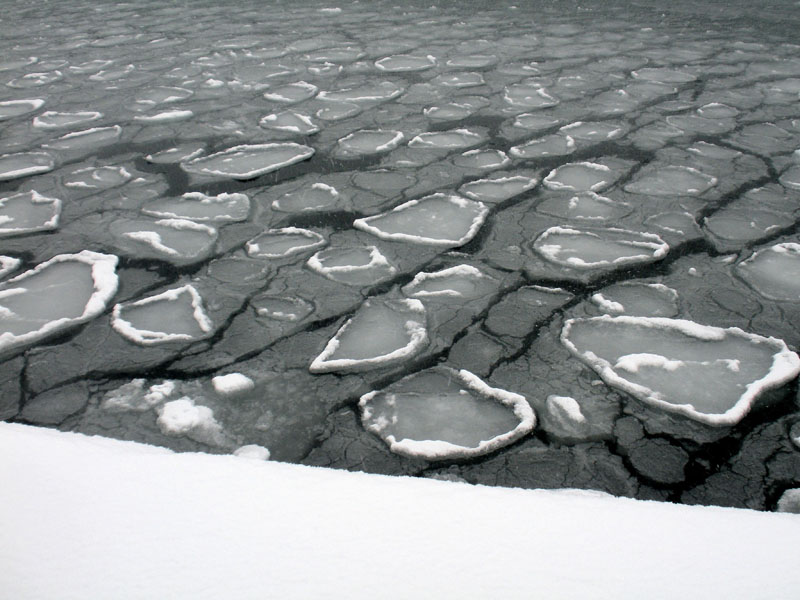
[[[11,2],[0,418],[800,512],[798,10]]]

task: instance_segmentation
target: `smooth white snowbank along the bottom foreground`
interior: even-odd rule
[[[8,598],[780,598],[800,518],[0,424]]]

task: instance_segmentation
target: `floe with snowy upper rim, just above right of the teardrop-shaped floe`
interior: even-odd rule
[[[474,300],[493,293],[497,282],[472,265],[457,265],[434,273],[417,273],[402,292],[410,298]]]

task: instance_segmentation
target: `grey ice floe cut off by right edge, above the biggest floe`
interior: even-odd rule
[[[765,298],[800,301],[800,244],[784,242],[759,250],[734,272]]]

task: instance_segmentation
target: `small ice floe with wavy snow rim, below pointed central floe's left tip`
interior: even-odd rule
[[[347,285],[373,285],[397,273],[375,246],[327,248],[309,258],[306,265],[323,277]]]

